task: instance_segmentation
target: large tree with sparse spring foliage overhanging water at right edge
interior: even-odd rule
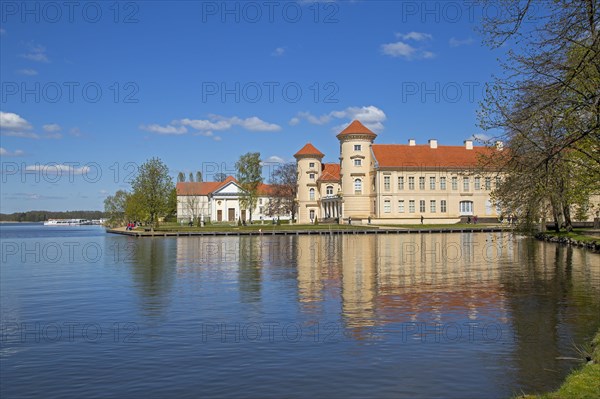
[[[519,220],[551,213],[569,230],[571,207],[600,190],[597,0],[544,2],[541,15],[533,0],[493,4],[500,10],[484,18],[488,44],[518,45],[508,46],[505,73],[488,85],[480,113],[481,126],[506,142],[486,160],[504,177],[494,197]]]

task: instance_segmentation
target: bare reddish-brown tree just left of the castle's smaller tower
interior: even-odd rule
[[[271,191],[266,207],[268,216],[296,215],[296,193],[298,191],[298,171],[295,163],[281,164],[271,175]]]

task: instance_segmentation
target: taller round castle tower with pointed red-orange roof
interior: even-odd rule
[[[375,216],[375,165],[371,145],[377,137],[355,120],[337,136],[340,141],[340,179],[347,220]]]

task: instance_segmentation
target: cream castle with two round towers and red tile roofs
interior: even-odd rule
[[[374,144],[377,135],[355,120],[337,136],[339,163],[308,143],[298,168],[298,222],[315,218],[380,224],[456,223],[477,216],[497,220],[490,198],[497,174],[478,167],[495,151],[473,146]],[[501,150],[498,146],[496,150]]]

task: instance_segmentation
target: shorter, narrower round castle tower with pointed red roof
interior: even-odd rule
[[[311,143],[306,144],[294,154],[298,170],[298,223],[312,223],[319,214],[319,189],[317,180],[321,173],[323,153]]]

